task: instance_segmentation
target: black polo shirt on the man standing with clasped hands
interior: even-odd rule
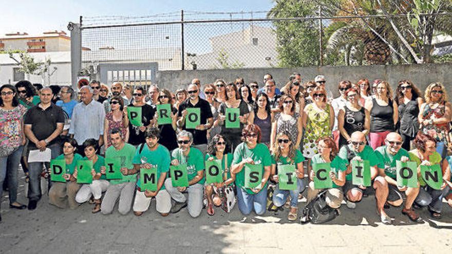
[[[31,125],[31,131],[37,140],[47,139],[56,129],[57,123],[64,124],[64,111],[62,108],[50,103],[50,106],[43,110],[40,104],[31,107],[24,117],[24,123]],[[52,140],[48,145],[60,142],[59,136]],[[36,148],[36,145],[30,142],[30,148]]]

